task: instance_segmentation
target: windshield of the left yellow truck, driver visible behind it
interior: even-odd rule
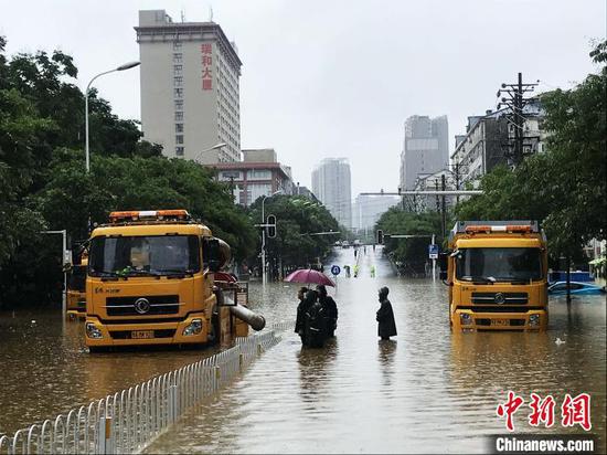
[[[195,235],[95,237],[90,244],[92,276],[160,276],[200,271]]]

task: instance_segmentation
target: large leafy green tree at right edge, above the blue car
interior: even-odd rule
[[[566,255],[607,229],[607,41],[590,53],[600,65],[574,89],[542,96],[550,131],[547,170],[556,193],[544,222],[556,251]]]

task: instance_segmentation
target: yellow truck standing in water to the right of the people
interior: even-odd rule
[[[458,221],[440,255],[454,331],[545,330],[546,237],[536,221]]]

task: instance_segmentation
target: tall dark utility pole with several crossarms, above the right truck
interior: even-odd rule
[[[537,84],[523,84],[523,74],[519,73],[518,82],[515,84],[502,84],[501,88],[498,91],[498,97],[502,94],[508,94],[510,98],[502,97],[501,103],[498,104],[498,109],[501,108],[501,105],[505,105],[510,108],[511,114],[509,117],[509,124],[514,127],[514,138],[512,144],[513,151],[509,155],[512,159],[514,166],[519,166],[523,160],[523,145],[524,145],[524,125],[525,116],[523,114],[523,108],[526,104],[533,98],[524,98],[524,93],[533,92],[534,87]],[[510,135],[509,135],[510,141]]]

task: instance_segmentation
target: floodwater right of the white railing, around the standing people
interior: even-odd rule
[[[340,251],[333,263],[352,265],[352,252]],[[373,263],[377,278],[370,276]],[[458,336],[449,330],[447,288],[439,281],[392,276],[370,247],[359,278],[338,279],[331,290],[340,310],[334,340],[324,349],[301,349],[299,337],[287,332],[149,452],[487,452],[483,436],[505,432],[496,408],[509,390],[526,402],[531,392],[551,393],[557,406],[565,393],[587,392],[593,433],[605,433],[604,296],[575,298],[571,311],[564,300],[551,300],[547,332]],[[387,342],[376,336],[382,285],[391,289],[398,330]],[[296,288],[255,287],[269,320],[295,317]],[[521,409],[517,431],[582,432],[561,427],[556,411],[555,426],[536,430]]]

